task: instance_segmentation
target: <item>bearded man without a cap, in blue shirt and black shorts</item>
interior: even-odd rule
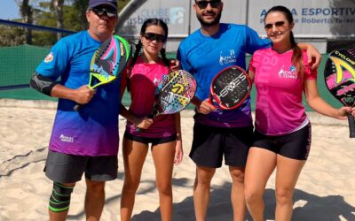
[[[209,87],[217,72],[231,65],[245,69],[246,53],[271,46],[269,40],[260,39],[247,26],[220,23],[223,7],[221,0],[195,0],[193,9],[201,28],[181,42],[177,51],[182,68],[193,73],[198,85],[193,99],[196,112],[190,152],[196,164],[193,203],[198,221],[206,219],[210,182],[223,157],[233,179],[233,220],[245,220],[244,169],[253,139],[250,99],[236,110],[220,110],[209,103]],[[317,50],[310,45],[301,48],[309,48],[319,65]]]

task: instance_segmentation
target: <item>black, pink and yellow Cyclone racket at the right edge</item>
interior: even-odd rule
[[[324,79],[327,89],[344,106],[355,106],[355,49],[334,50],[327,57]],[[350,137],[355,138],[355,119],[348,113]]]

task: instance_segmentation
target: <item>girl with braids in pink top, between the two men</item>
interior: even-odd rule
[[[122,94],[127,85],[131,98],[129,110],[123,106],[121,110],[122,116],[127,118],[122,143],[122,221],[130,220],[150,143],[162,220],[172,219],[172,170],[174,163],[180,164],[183,157],[180,115],[161,115],[154,119],[147,117],[153,112],[156,88],[163,75],[170,72],[170,61],[165,57],[163,48],[167,36],[168,27],[161,19],[147,19],[141,27],[127,76],[122,78]],[[159,53],[162,57],[159,57]]]

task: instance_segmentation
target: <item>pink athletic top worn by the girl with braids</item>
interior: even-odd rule
[[[162,81],[162,76],[167,73],[169,73],[169,68],[162,61],[157,64],[145,64],[143,59],[138,57],[130,72],[130,112],[138,118],[152,114],[155,90]],[[148,138],[170,137],[176,133],[174,116],[157,116],[148,129],[139,132],[130,121],[127,121],[126,133]]]

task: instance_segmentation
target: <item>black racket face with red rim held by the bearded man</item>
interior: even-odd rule
[[[218,72],[210,86],[211,103],[223,110],[233,110],[241,106],[250,94],[251,81],[239,66],[230,66]]]

